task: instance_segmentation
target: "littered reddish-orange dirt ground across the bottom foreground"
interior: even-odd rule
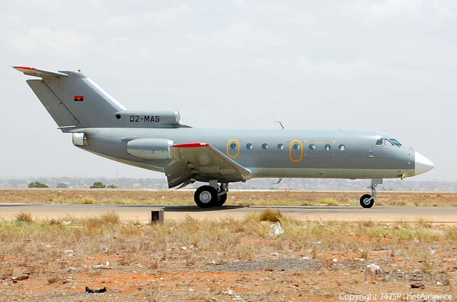
[[[49,242],[50,245],[54,243]],[[255,242],[241,240],[239,244],[249,244],[256,249],[265,242],[256,246]],[[401,274],[413,274],[420,263],[389,255],[388,249],[378,249],[370,250],[370,258],[363,261],[354,253],[337,250],[314,255],[304,250],[300,255],[292,255],[260,249],[252,260],[235,259],[225,264],[208,263],[197,267],[185,265],[183,258],[187,251],[181,248],[169,252],[172,259],[162,259],[158,263],[139,255],[131,255],[131,259],[125,259],[125,255],[63,255],[63,259],[51,265],[32,268],[35,271],[27,280],[17,283],[9,278],[3,280],[0,295],[7,301],[337,301],[344,300],[339,299],[341,294],[343,297],[377,294],[370,300],[381,301],[403,300],[381,298],[383,293],[401,293],[402,297],[417,293],[455,294],[455,248],[437,254],[434,260],[440,260],[436,260],[437,266],[432,273],[438,275],[428,281],[422,281],[420,276],[419,281],[410,276],[402,280]],[[108,267],[101,267],[106,266],[107,261],[110,262]],[[20,262],[13,261],[15,276],[30,270]],[[382,276],[372,275],[375,272],[367,268],[372,263],[381,268],[379,272],[388,273],[384,276],[385,281]],[[391,277],[395,273],[399,275]],[[448,279],[440,280],[444,274]],[[440,281],[442,284],[437,283]],[[414,284],[419,287],[410,288]],[[106,288],[106,292],[86,293],[86,286]],[[421,299],[424,300],[430,299]]]

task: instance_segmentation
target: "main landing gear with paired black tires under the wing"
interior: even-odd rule
[[[193,200],[201,208],[220,207],[227,200],[228,183],[217,184],[210,181],[209,185],[202,185],[195,191]]]

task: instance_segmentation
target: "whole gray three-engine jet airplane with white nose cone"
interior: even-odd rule
[[[434,164],[394,137],[366,130],[198,129],[176,110],[127,110],[78,71],[14,69],[27,80],[63,133],[78,148],[165,173],[169,188],[206,182],[194,193],[201,208],[222,206],[228,184],[256,177],[371,179],[371,208],[384,178],[406,178]],[[282,126],[282,124],[281,124]]]

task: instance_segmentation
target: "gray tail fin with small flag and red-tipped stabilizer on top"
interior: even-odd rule
[[[115,113],[126,110],[81,72],[13,68],[42,78],[26,82],[60,128],[116,127],[120,121],[115,118]]]

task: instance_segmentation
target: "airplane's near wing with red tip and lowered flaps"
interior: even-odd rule
[[[251,171],[207,143],[184,143],[170,147],[173,162],[165,168],[168,187],[195,181],[245,181]]]

